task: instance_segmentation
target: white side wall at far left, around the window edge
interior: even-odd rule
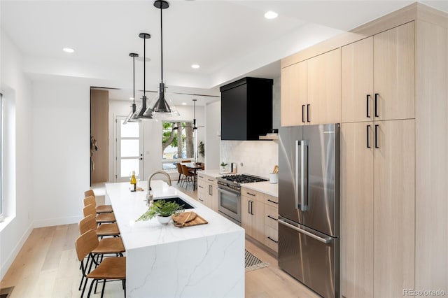
[[[3,201],[0,222],[0,274],[3,278],[27,236],[33,220],[33,102],[30,80],[22,73],[22,54],[1,31],[3,113]]]

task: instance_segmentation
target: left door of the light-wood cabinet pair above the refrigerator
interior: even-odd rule
[[[306,108],[307,61],[302,61],[281,69],[281,126],[304,125]]]

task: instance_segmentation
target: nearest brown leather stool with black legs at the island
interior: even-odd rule
[[[93,284],[97,281],[103,282],[101,297],[104,296],[106,281],[122,281],[126,297],[126,257],[105,257],[102,262],[97,264],[97,267],[92,270],[92,266],[95,262],[94,251],[98,250],[99,242],[97,233],[95,233],[93,229],[81,234],[75,241],[76,256],[81,263],[83,278],[85,278],[81,298],[84,295],[89,278],[92,279],[92,283],[90,283],[87,298],[90,297]]]

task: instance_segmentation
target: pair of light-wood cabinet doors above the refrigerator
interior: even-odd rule
[[[340,122],[340,48],[281,69],[281,126]]]

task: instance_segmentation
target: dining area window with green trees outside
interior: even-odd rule
[[[162,169],[174,171],[179,159],[194,158],[193,122],[162,122]]]

